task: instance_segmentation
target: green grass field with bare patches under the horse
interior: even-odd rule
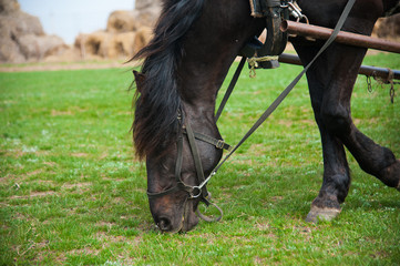
[[[365,63],[400,69],[400,55]],[[223,136],[236,143],[299,71],[244,72],[218,122]],[[0,265],[400,264],[400,193],[350,154],[340,216],[304,221],[322,175],[305,79],[209,183],[223,221],[160,234],[133,156],[131,82],[126,69],[0,73]],[[390,104],[388,86],[368,92],[359,76],[352,115],[399,157],[399,85],[397,94]]]

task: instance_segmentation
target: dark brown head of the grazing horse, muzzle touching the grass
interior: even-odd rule
[[[147,105],[154,102],[146,99],[146,92],[148,85],[154,86],[155,79],[148,81],[146,74],[135,71],[134,75],[141,93],[136,101],[134,139],[139,155],[146,157],[151,213],[161,231],[187,232],[198,223],[198,203],[208,196],[206,176],[220,160],[226,144],[220,140],[213,112],[198,113],[197,106],[181,99],[175,111],[164,106],[164,112],[150,112]],[[155,105],[171,106],[171,103],[162,101]],[[160,106],[150,109],[160,110]],[[148,112],[143,113],[145,109]],[[166,125],[171,126],[156,126],[164,121],[170,121]]]

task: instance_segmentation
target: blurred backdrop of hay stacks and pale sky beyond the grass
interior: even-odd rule
[[[0,63],[127,60],[152,37],[161,0],[0,0]],[[399,40],[400,17],[373,35]]]

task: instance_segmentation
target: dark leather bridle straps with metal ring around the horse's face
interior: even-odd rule
[[[176,146],[177,146],[177,157],[176,157],[176,163],[175,163],[175,181],[176,181],[176,186],[173,186],[168,190],[165,190],[163,192],[148,192],[147,191],[147,196],[148,198],[157,198],[164,195],[168,195],[172,193],[176,193],[180,191],[184,191],[187,193],[188,197],[187,198],[199,198],[202,202],[204,202],[207,206],[211,204],[209,200],[208,200],[208,192],[207,192],[207,187],[206,184],[208,182],[208,180],[213,176],[209,175],[207,178],[205,178],[204,176],[204,171],[203,171],[203,165],[202,165],[202,161],[201,161],[201,156],[198,153],[198,149],[197,149],[197,144],[196,144],[196,140],[198,141],[203,141],[206,142],[213,146],[215,146],[216,149],[219,150],[227,150],[230,151],[232,146],[226,144],[224,142],[224,140],[217,140],[214,139],[212,136],[208,135],[204,135],[202,133],[198,132],[194,132],[192,130],[191,123],[184,121],[183,117],[183,112],[180,110],[178,115],[177,115],[177,120],[180,121],[180,124],[182,125],[180,135],[177,137],[176,141]],[[193,160],[195,163],[195,167],[196,167],[196,176],[197,176],[197,184],[195,186],[192,185],[187,185],[183,182],[181,175],[182,175],[182,161],[183,161],[183,137],[184,135],[187,136],[188,143],[189,143],[189,147],[192,151],[192,155],[193,155]]]

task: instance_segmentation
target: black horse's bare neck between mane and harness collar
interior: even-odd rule
[[[229,66],[245,43],[261,32],[264,21],[249,16],[246,1],[207,3],[185,37],[176,80],[188,115],[214,121],[217,92]]]

